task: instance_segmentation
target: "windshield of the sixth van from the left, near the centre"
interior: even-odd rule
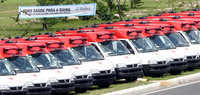
[[[130,54],[129,50],[121,43],[121,41],[105,41],[98,44],[108,56]]]

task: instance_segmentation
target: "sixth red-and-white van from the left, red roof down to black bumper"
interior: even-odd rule
[[[62,32],[57,32],[57,35],[59,35],[59,33],[62,35]],[[126,79],[130,81],[136,80],[141,75],[142,66],[140,65],[139,59],[132,55],[113,33],[82,31],[80,33],[63,34],[63,36],[75,35],[87,37],[94,48],[96,48],[106,60],[113,64],[117,79]]]

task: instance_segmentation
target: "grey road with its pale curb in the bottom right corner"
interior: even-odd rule
[[[200,95],[200,73],[102,95]]]

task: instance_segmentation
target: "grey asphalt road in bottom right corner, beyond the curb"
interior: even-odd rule
[[[200,81],[142,95],[200,95]]]

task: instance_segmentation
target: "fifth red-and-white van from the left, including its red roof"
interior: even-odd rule
[[[52,34],[44,38],[43,35],[35,36],[38,40],[54,39],[64,41],[67,50],[63,52],[70,52],[81,61],[81,68],[87,69],[91,72],[93,77],[93,85],[98,87],[109,87],[116,79],[114,67],[87,42],[87,39],[77,36],[72,37],[55,37]],[[43,37],[43,38],[42,38]],[[55,54],[55,52],[51,52]]]

